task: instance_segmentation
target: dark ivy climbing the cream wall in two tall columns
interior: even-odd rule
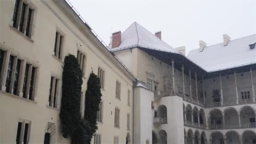
[[[65,57],[62,76],[61,132],[64,138],[71,138],[71,144],[90,144],[97,130],[97,111],[101,101],[99,78],[91,73],[85,93],[85,119],[81,117],[82,71],[74,55]]]

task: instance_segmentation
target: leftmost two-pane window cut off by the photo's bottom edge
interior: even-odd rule
[[[29,131],[30,124],[29,123],[21,123],[18,122],[17,134],[16,134],[16,144],[28,144],[29,143]]]

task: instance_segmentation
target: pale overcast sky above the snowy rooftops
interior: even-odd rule
[[[91,28],[109,43],[134,21],[186,53],[199,47],[256,34],[256,0],[69,0]]]

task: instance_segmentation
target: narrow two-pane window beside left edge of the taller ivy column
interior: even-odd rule
[[[57,108],[56,97],[59,88],[59,80],[51,76],[50,92],[49,92],[49,106]]]

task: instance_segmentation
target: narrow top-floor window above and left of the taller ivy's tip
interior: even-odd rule
[[[58,59],[62,59],[62,49],[63,49],[63,41],[64,36],[60,32],[56,32],[55,35],[55,45],[54,45],[54,56],[56,56]]]

